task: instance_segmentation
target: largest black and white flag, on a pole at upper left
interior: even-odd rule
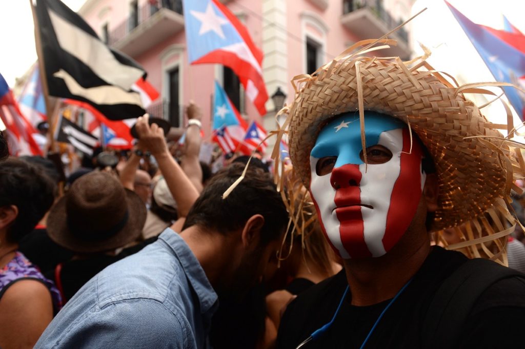
[[[60,0],[36,0],[36,15],[49,94],[85,101],[111,120],[145,113],[131,86],[144,69],[110,49]]]

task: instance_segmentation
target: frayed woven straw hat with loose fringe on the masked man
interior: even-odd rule
[[[395,44],[373,41],[355,44],[311,76],[292,79],[295,99],[279,113],[288,114],[285,127],[293,175],[309,187],[310,152],[320,130],[337,115],[359,112],[363,146],[364,111],[392,115],[408,124],[434,159],[439,207],[433,230],[455,227],[464,242],[449,248],[505,263],[505,236],[516,224],[505,200],[509,202],[510,189],[515,187],[513,179],[525,173],[520,152],[524,145],[503,138],[498,131],[505,128],[512,134],[511,124],[488,122],[464,96],[464,92],[493,94],[478,87],[505,84],[453,86],[445,73],[427,64],[428,51],[408,62],[364,56],[371,45],[351,53],[366,44]],[[510,115],[508,107],[507,111]]]

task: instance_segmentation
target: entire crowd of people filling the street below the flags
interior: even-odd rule
[[[195,104],[182,150],[146,114],[65,181],[0,134],[0,347],[519,345],[525,145],[424,62],[293,81],[274,173],[212,174]]]

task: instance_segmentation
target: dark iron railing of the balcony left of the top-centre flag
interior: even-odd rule
[[[121,24],[113,28],[109,34],[109,45],[113,45],[128,36],[135,28],[139,27],[161,8],[167,8],[182,15],[182,0],[149,1],[139,8],[137,15],[131,14]]]

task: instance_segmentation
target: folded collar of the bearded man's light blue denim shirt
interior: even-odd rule
[[[186,242],[175,231],[167,228],[159,235],[159,240],[164,241],[175,253],[178,261],[188,281],[190,281],[197,298],[199,300],[201,314],[210,310],[215,311],[215,304],[217,302],[217,294],[209,283],[201,263],[197,260],[192,250],[186,245]]]

